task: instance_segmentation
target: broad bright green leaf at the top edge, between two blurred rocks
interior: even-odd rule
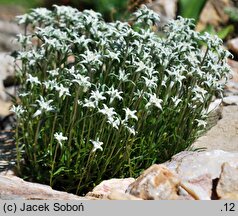
[[[206,0],[179,0],[179,15],[198,21]]]

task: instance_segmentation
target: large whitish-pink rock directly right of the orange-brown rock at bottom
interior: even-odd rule
[[[222,150],[185,151],[175,155],[164,165],[178,175],[180,186],[187,195],[193,199],[210,200],[214,196],[214,180],[219,178],[222,164],[225,162],[238,166],[238,153]]]

